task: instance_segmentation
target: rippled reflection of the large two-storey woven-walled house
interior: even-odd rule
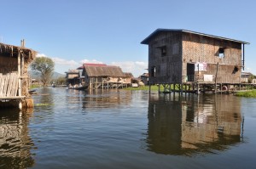
[[[158,154],[217,153],[241,142],[241,127],[241,102],[235,97],[149,98],[147,147]]]

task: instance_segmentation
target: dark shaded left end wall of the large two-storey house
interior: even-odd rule
[[[161,55],[161,47],[166,55]],[[148,43],[149,83],[182,82],[182,35],[180,32],[162,32]],[[156,68],[152,76],[152,68]]]

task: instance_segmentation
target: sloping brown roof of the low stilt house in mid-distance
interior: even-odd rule
[[[125,73],[118,66],[113,65],[86,65],[84,70],[87,76],[125,77]]]

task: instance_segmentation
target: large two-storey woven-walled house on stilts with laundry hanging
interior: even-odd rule
[[[148,45],[149,85],[162,85],[166,92],[216,93],[241,84],[248,42],[195,31],[157,29],[141,43]]]

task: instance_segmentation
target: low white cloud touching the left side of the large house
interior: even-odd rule
[[[140,76],[145,72],[148,72],[148,63],[140,61],[125,61],[125,62],[112,62],[111,65],[117,65],[124,72],[131,72],[133,76]]]

